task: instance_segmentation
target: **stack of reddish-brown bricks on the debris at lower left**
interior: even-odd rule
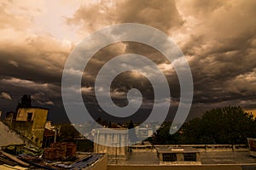
[[[77,147],[73,143],[52,143],[50,148],[44,149],[44,159],[61,161],[75,156]]]

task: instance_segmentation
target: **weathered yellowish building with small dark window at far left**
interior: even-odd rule
[[[16,113],[7,113],[4,122],[30,139],[38,147],[42,147],[47,116],[48,109],[39,107],[18,108]]]

